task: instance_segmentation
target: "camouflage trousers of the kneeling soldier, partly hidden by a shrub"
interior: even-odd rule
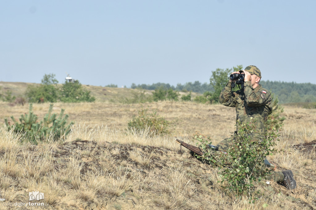
[[[214,151],[212,155],[220,156],[223,155],[222,152],[226,152],[230,146],[230,143],[234,140],[234,137],[224,139],[223,141],[219,142],[216,146],[218,147],[218,151]],[[222,152],[221,152],[222,151]],[[258,163],[256,165],[256,168],[260,171],[266,171],[267,168],[269,168],[269,161],[267,159],[264,159],[261,163]],[[283,182],[284,181],[284,175],[281,171],[274,171],[267,177],[265,177],[267,180],[274,180],[275,182]]]

